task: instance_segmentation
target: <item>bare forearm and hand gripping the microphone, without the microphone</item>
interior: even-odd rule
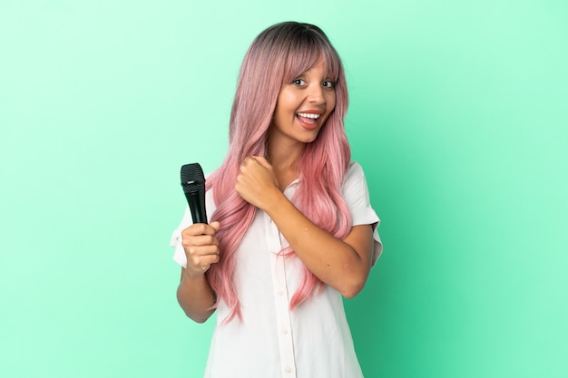
[[[195,224],[181,231],[181,244],[187,257],[187,267],[181,268],[178,303],[185,314],[197,323],[204,323],[215,311],[215,294],[205,272],[219,261],[219,241],[214,237],[219,222]]]

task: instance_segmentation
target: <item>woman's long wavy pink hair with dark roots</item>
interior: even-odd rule
[[[267,156],[270,121],[283,83],[292,82],[323,58],[328,75],[335,80],[336,106],[318,138],[307,144],[299,158],[300,184],[294,205],[330,234],[348,235],[351,219],[341,185],[351,151],[343,120],[348,110],[348,89],[338,53],[321,29],[312,24],[287,22],[270,26],[250,45],[240,68],[237,91],[230,114],[229,151],[220,168],[207,180],[217,205],[211,221],[219,220],[220,261],[211,265],[207,277],[218,301],[230,308],[225,322],[240,317],[238,293],[232,285],[235,252],[250,228],[256,209],[235,191],[242,161],[251,155]],[[292,251],[286,251],[292,254]],[[301,304],[322,283],[308,268],[290,307]]]

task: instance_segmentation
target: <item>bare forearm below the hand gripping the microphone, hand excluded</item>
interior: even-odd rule
[[[197,323],[204,323],[215,311],[215,295],[205,275],[191,277],[181,269],[181,282],[178,286],[178,303],[185,312]]]

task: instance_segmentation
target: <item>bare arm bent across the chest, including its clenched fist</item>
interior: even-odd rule
[[[357,296],[367,282],[371,267],[373,231],[370,225],[351,228],[343,240],[333,237],[284,196],[264,158],[245,160],[235,189],[243,199],[272,218],[290,247],[315,276],[343,296]]]

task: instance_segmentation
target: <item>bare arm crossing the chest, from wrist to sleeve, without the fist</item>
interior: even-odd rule
[[[357,226],[344,240],[330,235],[306,218],[283,194],[264,210],[304,265],[343,296],[363,288],[371,267],[372,228]]]

